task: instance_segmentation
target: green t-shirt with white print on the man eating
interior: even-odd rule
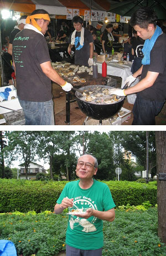
[[[74,198],[78,208],[93,208],[98,211],[107,211],[116,205],[113,202],[110,189],[105,183],[94,180],[89,189],[81,189],[79,181],[71,181],[65,185],[59,199]],[[82,250],[96,250],[103,247],[102,220],[91,216],[89,219],[69,215],[66,244]]]

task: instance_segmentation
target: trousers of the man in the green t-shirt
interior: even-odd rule
[[[80,250],[66,244],[66,256],[101,256],[102,248],[97,250]]]

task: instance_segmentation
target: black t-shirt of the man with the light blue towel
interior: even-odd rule
[[[146,77],[147,72],[159,73],[153,86],[138,92],[141,97],[150,101],[163,102],[166,99],[166,35],[160,35],[151,50],[151,63],[144,65],[141,80]]]

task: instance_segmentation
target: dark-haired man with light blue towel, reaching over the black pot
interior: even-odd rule
[[[144,42],[142,66],[133,75],[126,78],[128,86],[141,75],[141,80],[125,90],[112,89],[111,94],[124,96],[137,92],[133,106],[132,125],[155,125],[155,116],[159,114],[166,98],[166,35],[156,25],[157,14],[153,9],[144,7],[132,14],[131,26]]]

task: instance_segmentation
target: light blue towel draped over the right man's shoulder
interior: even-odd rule
[[[142,59],[142,64],[143,65],[149,65],[151,63],[151,58],[150,58],[150,53],[151,50],[154,46],[155,41],[157,40],[157,38],[159,37],[159,35],[161,35],[162,29],[159,26],[156,26],[155,32],[151,38],[151,40],[147,39],[144,42],[143,48],[142,48],[142,52],[144,54],[144,57]]]

